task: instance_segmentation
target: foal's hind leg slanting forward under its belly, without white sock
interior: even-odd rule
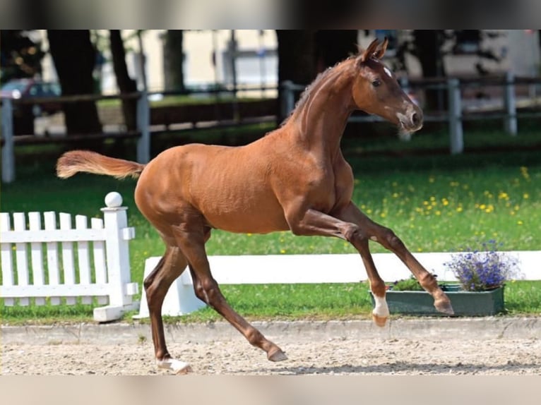
[[[222,295],[218,283],[213,279],[212,274],[210,274],[210,266],[205,251],[205,242],[210,236],[210,230],[206,229],[203,231],[203,227],[196,223],[173,226],[173,232],[182,253],[184,253],[189,262],[196,296],[220,313],[252,345],[266,351],[268,360],[286,360],[287,356],[285,356],[282,349],[272,341],[266,339],[249,322],[246,322],[242,316],[231,308]]]

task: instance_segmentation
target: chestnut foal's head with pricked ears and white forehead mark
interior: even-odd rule
[[[395,75],[381,63],[388,41],[374,40],[355,59],[358,70],[352,95],[357,108],[376,114],[400,128],[400,135],[409,134],[422,127],[422,111],[403,92]]]

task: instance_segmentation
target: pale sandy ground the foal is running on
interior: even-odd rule
[[[537,325],[537,324],[536,324]],[[173,339],[170,352],[191,363],[196,375],[541,375],[538,337],[476,337],[456,334],[413,337],[273,337],[289,359],[266,360],[242,337]],[[9,340],[9,339],[8,339]],[[2,375],[159,375],[149,339],[3,341]]]

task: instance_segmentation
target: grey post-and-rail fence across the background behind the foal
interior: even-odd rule
[[[518,99],[516,88],[518,86],[529,86],[530,89],[537,89],[541,85],[541,78],[525,78],[515,77],[513,73],[505,75],[486,77],[486,78],[432,78],[432,79],[408,79],[400,78],[400,84],[405,91],[410,90],[441,90],[442,97],[447,97],[448,109],[446,111],[430,113],[424,115],[424,121],[427,122],[446,122],[449,128],[449,150],[452,154],[463,152],[463,122],[486,119],[501,119],[504,131],[510,135],[518,133],[518,118],[539,118],[541,111],[521,111],[518,112]],[[280,83],[281,99],[280,99],[280,116],[287,117],[290,112],[295,109],[295,100],[297,96],[306,89],[304,85],[298,85],[291,81]],[[484,111],[482,109],[466,108],[464,103],[463,92],[468,89],[484,88],[484,87],[501,87],[501,107],[497,107],[497,111]],[[242,114],[242,102],[237,99],[238,94],[248,95],[251,92],[264,93],[266,91],[273,94],[278,90],[278,86],[261,86],[261,87],[222,87],[206,90],[183,90],[176,92],[134,92],[129,94],[119,95],[73,95],[49,98],[29,98],[11,100],[8,98],[1,99],[1,126],[2,126],[2,181],[10,183],[15,181],[15,146],[22,143],[51,143],[65,142],[72,143],[81,140],[103,140],[105,138],[136,138],[137,139],[137,160],[140,163],[146,163],[150,159],[150,144],[152,135],[167,133],[169,131],[180,131],[182,129],[207,129],[207,128],[223,128],[230,126],[239,126],[249,123],[276,122],[276,114],[268,114],[268,107],[262,107],[258,112],[252,111],[244,116]],[[189,108],[197,106],[161,107],[162,111],[155,111],[150,108],[149,99],[153,97],[168,97],[178,95],[203,95],[204,97],[215,97],[220,100],[220,97],[232,97],[232,113],[230,111],[222,111],[218,116],[211,118],[209,121],[208,114],[198,114],[201,111],[188,111]],[[81,101],[97,101],[101,99],[135,99],[136,107],[136,130],[135,131],[114,131],[93,134],[71,134],[64,137],[37,137],[35,135],[23,135],[14,137],[13,135],[13,110],[17,106],[25,104],[44,104],[44,103],[73,103]],[[268,100],[273,102],[273,100]],[[276,103],[272,103],[273,105]],[[218,104],[217,104],[218,105]],[[278,104],[276,104],[278,105]],[[200,107],[203,109],[203,107]],[[177,109],[177,111],[172,111]],[[215,108],[215,111],[218,111]],[[186,121],[186,114],[179,114],[179,111],[184,111],[192,119]],[[264,112],[264,114],[262,113]],[[197,114],[196,114],[197,113]],[[261,115],[263,114],[263,115]],[[199,116],[199,118],[197,118]],[[153,121],[163,121],[159,125]],[[180,120],[180,121],[179,121]],[[350,122],[376,122],[384,121],[379,116],[353,114],[350,116]],[[164,127],[165,129],[157,129]],[[176,129],[172,129],[177,127]],[[24,141],[24,142],[23,142]]]

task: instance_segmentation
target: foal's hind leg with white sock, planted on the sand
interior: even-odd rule
[[[160,262],[153,272],[148,274],[144,282],[157,366],[179,374],[187,373],[191,368],[188,363],[172,358],[167,351],[163,331],[162,304],[167,290],[186,269],[186,264],[186,258],[179,248],[167,246]]]

